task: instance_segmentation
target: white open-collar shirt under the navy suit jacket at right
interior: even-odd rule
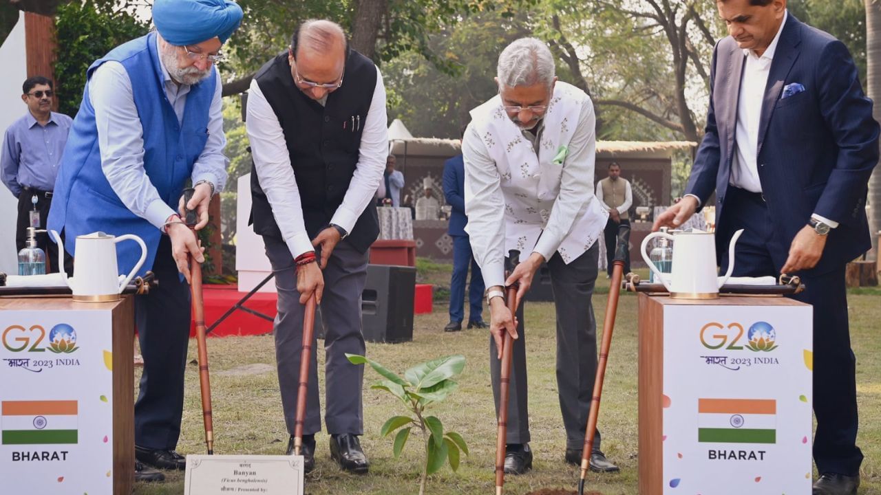
[[[780,33],[786,26],[788,12],[783,13],[783,22],[774,35],[774,40],[761,56],[751,49],[744,49],[746,63],[744,74],[740,80],[740,97],[737,100],[737,127],[735,130],[734,160],[731,164],[729,184],[754,193],[762,192],[759,181],[757,153],[759,151],[759,122],[762,118],[762,101],[765,99],[765,88],[774,52]]]

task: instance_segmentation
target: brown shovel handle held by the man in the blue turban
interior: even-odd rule
[[[184,222],[193,228],[198,223],[196,211],[189,210],[187,204],[193,198],[193,188],[183,190]],[[194,231],[195,233],[195,231]],[[196,321],[196,347],[199,361],[199,388],[202,392],[202,417],[205,425],[205,446],[208,454],[214,454],[214,425],[211,419],[211,378],[208,373],[208,347],[205,342],[205,306],[202,296],[202,265],[196,256],[189,254],[189,290],[193,304],[193,319]]]

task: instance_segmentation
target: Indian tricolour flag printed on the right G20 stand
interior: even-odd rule
[[[776,443],[774,399],[698,399],[698,441]]]

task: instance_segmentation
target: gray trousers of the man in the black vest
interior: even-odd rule
[[[278,290],[278,315],[275,330],[278,385],[285,411],[287,431],[293,434],[297,411],[297,390],[300,380],[300,352],[303,348],[303,314],[297,292],[297,275],[291,251],[280,239],[263,236],[266,255],[275,273]],[[367,277],[367,254],[359,253],[348,242],[340,242],[330,255],[323,270],[322,322],[324,340],[324,383],[327,409],[325,425],[330,434],[364,432],[364,411],[361,402],[361,383],[364,366],[354,366],[345,353],[364,355],[364,336],[361,334],[361,292]],[[317,333],[317,331],[316,331]],[[311,435],[322,429],[321,404],[318,398],[318,363],[315,351],[309,366],[309,388],[306,403],[306,422],[303,434]]]

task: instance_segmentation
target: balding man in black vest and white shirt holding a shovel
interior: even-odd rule
[[[368,205],[388,154],[385,105],[380,71],[348,47],[343,29],[307,20],[291,46],[255,75],[246,115],[254,154],[251,216],[278,289],[276,358],[287,430],[293,433],[297,408],[304,305],[315,294],[326,329],[330,456],[355,473],[368,468],[358,440],[363,366],[352,366],[344,354],[365,351],[360,296],[367,249],[379,233]],[[315,467],[320,430],[313,354],[303,426],[307,472]]]

